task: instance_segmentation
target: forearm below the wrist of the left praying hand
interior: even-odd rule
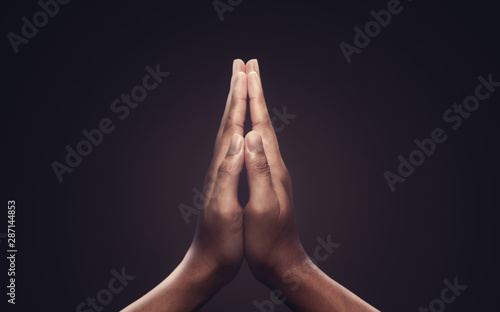
[[[224,286],[216,271],[188,252],[165,280],[123,312],[197,310]]]

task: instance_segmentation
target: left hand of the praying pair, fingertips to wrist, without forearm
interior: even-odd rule
[[[243,209],[238,202],[238,183],[244,163],[243,126],[247,105],[245,63],[235,60],[231,88],[212,162],[203,187],[204,205],[188,255],[203,259],[229,283],[243,261]]]

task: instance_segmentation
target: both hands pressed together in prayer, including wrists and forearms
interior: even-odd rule
[[[247,98],[252,131],[244,136]],[[245,166],[249,200],[238,201]],[[269,117],[257,60],[233,63],[233,75],[196,234],[179,266],[125,308],[193,311],[231,282],[246,259],[255,278],[286,296],[294,311],[377,311],[309,259],[297,233],[292,181]]]

